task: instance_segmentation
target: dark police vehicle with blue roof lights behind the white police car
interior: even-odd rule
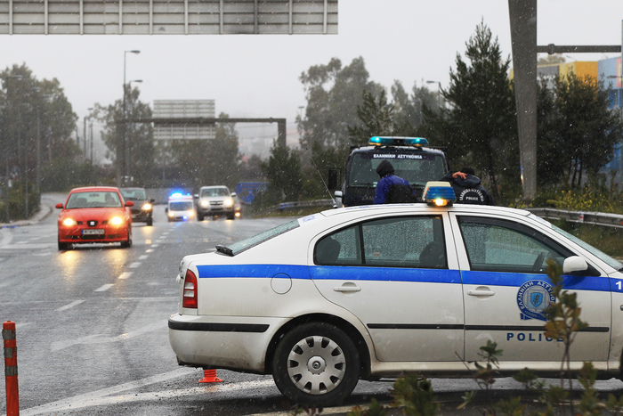
[[[379,177],[376,167],[382,160],[392,163],[395,175],[411,184],[418,200],[425,184],[438,181],[449,171],[443,151],[425,147],[424,137],[371,137],[369,146],[352,149],[346,161],[342,188],[335,192],[336,208],[371,205]],[[336,170],[329,171],[329,189],[336,189]]]

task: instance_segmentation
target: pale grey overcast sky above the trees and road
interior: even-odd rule
[[[287,118],[305,104],[298,77],[312,65],[362,56],[370,78],[449,82],[457,53],[482,21],[511,54],[506,0],[339,0],[339,35],[2,36],[0,68],[25,62],[38,79],[56,77],[82,118],[94,102],[120,98],[142,79],[143,102],[214,99],[231,117]],[[620,45],[620,0],[539,0],[538,45]],[[572,55],[596,61],[615,54]],[[429,86],[434,89],[434,85]]]

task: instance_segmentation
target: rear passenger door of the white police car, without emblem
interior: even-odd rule
[[[388,216],[319,236],[320,293],[368,329],[379,361],[457,361],[463,294],[447,215]]]

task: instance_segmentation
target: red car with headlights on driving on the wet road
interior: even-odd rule
[[[125,207],[134,202],[124,201],[119,189],[113,186],[75,188],[69,192],[59,215],[59,250],[72,244],[120,242],[122,248],[132,246],[132,214]]]

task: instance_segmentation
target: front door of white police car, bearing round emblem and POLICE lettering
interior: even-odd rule
[[[453,213],[452,224],[463,242],[457,241],[457,252],[464,283],[465,359],[479,360],[479,348],[490,339],[503,350],[500,363],[558,368],[562,342],[544,334],[543,311],[554,301],[546,260],[562,265],[575,254],[525,218]],[[565,289],[578,293],[581,319],[589,323],[571,347],[571,359],[580,364],[606,362],[610,346],[610,283],[590,268],[593,275],[564,277]]]

